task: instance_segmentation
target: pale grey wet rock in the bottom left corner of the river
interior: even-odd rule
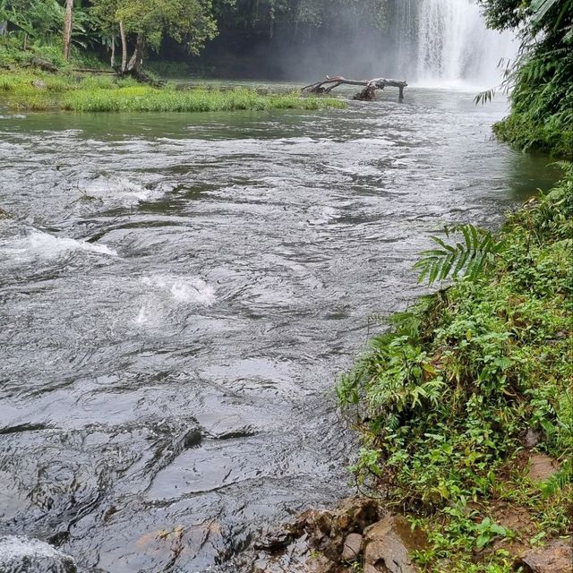
[[[69,555],[38,539],[16,535],[0,537],[2,573],[77,573]]]

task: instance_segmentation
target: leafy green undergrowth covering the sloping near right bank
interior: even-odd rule
[[[426,571],[509,572],[508,545],[570,532],[573,167],[563,167],[560,184],[489,235],[487,256],[472,255],[487,264],[466,263],[471,273],[393,315],[339,382],[363,438],[356,482],[427,532],[416,555]],[[448,248],[443,275],[465,246]],[[533,452],[560,465],[543,483],[528,477],[528,431]],[[522,527],[504,523],[512,509]]]

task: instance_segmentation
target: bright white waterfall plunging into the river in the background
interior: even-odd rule
[[[493,86],[500,59],[515,53],[512,35],[488,30],[475,0],[418,0],[416,20],[420,83]]]

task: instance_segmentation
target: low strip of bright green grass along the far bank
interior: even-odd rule
[[[336,98],[306,98],[298,93],[261,94],[255,90],[177,90],[154,88],[113,76],[0,73],[0,101],[13,109],[80,112],[207,112],[265,109],[341,108]]]

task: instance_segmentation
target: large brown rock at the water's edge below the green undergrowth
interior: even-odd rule
[[[364,532],[364,573],[417,573],[409,553],[422,550],[425,536],[406,518],[384,517]]]

